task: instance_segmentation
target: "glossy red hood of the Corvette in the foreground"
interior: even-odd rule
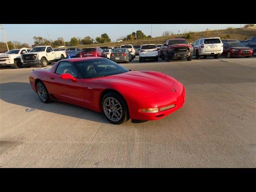
[[[176,81],[171,77],[166,78],[165,76],[166,74],[154,71],[130,71],[97,79],[122,84],[129,88],[142,87],[152,92],[158,92],[171,88]]]

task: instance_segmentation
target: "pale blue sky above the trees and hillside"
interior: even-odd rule
[[[152,24],[152,37],[162,36],[164,31],[174,33],[184,33],[189,31],[203,31],[226,29],[227,27],[240,28],[241,24]],[[244,26],[244,24],[242,24]],[[58,37],[70,41],[72,37],[84,38],[90,36],[96,38],[103,33],[108,34],[112,42],[117,38],[127,36],[137,30],[142,30],[144,34],[151,35],[151,24],[3,24],[7,41],[18,41],[34,44],[33,36],[42,36],[51,40]],[[0,41],[4,42],[2,31]]]

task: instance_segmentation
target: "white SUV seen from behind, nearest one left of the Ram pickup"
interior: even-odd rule
[[[158,50],[155,44],[145,44],[141,46],[139,52],[140,62],[146,59],[154,59],[158,61]]]

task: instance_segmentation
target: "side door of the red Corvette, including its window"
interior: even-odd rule
[[[72,75],[76,81],[60,78],[60,75],[65,73]],[[52,95],[60,101],[84,104],[83,79],[78,78],[78,72],[72,63],[60,62],[56,71],[49,76],[48,82]]]

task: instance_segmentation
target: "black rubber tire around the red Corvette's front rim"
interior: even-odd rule
[[[116,99],[118,102],[119,102],[119,105],[118,107],[121,107],[121,110],[122,110],[122,116],[120,117],[120,120],[111,120],[109,118],[109,116],[106,114],[105,110],[104,110],[104,101],[105,100],[108,100],[109,98],[114,98]],[[111,108],[111,107],[110,107]],[[102,113],[103,115],[105,116],[105,118],[112,124],[122,124],[124,122],[126,122],[127,120],[129,120],[129,112],[128,112],[128,107],[126,105],[126,102],[124,100],[124,98],[122,98],[122,96],[116,92],[109,92],[107,94],[105,94],[102,98],[102,101],[101,101],[101,109],[102,109]],[[114,111],[116,110],[113,110],[113,112],[111,113],[110,112],[110,115],[114,113]],[[119,113],[120,113],[120,110],[119,110]],[[116,112],[116,114],[118,114],[118,112]],[[117,117],[117,116],[116,116]]]

